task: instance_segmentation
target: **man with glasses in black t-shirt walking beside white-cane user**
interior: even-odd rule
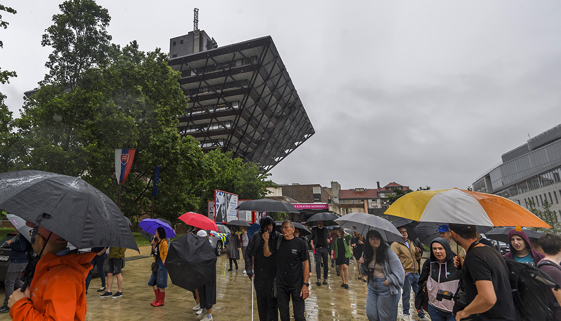
[[[292,309],[296,321],[305,321],[304,300],[310,295],[308,287],[309,260],[307,259],[308,247],[306,242],[295,238],[294,224],[284,221],[280,227],[282,238],[269,240],[269,233],[264,232],[263,254],[265,257],[276,255],[277,257],[277,306],[280,321],[290,320],[290,308],[288,304],[292,299]]]

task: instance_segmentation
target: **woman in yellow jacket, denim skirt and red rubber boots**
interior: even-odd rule
[[[154,262],[158,266],[156,272],[152,271],[148,285],[154,289],[156,300],[150,303],[153,306],[164,305],[165,288],[168,287],[168,270],[165,268],[165,258],[168,256],[168,241],[165,239],[165,230],[162,226],[156,229],[152,240]]]

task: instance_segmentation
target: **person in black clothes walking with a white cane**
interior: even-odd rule
[[[278,309],[277,298],[274,297],[274,280],[277,271],[277,262],[274,255],[265,257],[263,254],[263,234],[269,234],[270,238],[277,238],[279,233],[274,230],[275,222],[269,216],[259,221],[261,229],[254,233],[243,253],[245,270],[247,276],[252,280],[257,296],[257,311],[260,321],[277,321]],[[253,290],[252,295],[253,298]],[[251,299],[251,314],[253,315],[253,299]]]

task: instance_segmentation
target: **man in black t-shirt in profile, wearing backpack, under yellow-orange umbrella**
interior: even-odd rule
[[[465,259],[456,257],[457,265],[462,266],[461,282],[468,303],[457,312],[456,320],[472,314],[481,321],[517,320],[509,270],[503,257],[477,241],[475,225],[449,224],[449,227],[454,241],[467,252]]]

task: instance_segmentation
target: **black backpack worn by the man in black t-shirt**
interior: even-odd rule
[[[512,298],[521,321],[553,321],[548,292],[559,285],[539,268],[505,258],[510,272]]]

